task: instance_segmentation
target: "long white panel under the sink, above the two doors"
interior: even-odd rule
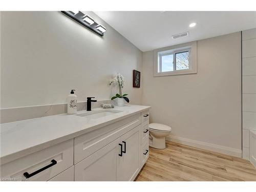
[[[74,164],[89,157],[141,123],[141,114],[106,125],[98,130],[78,136],[74,141]]]

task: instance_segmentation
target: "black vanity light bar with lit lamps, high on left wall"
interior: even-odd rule
[[[79,24],[88,29],[92,30],[93,32],[97,33],[100,36],[104,35],[106,32],[106,28],[102,25],[95,22],[95,20],[90,17],[88,14],[84,15],[81,11],[61,11],[62,13],[66,14],[70,18],[76,20]]]

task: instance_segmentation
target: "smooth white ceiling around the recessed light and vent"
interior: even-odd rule
[[[256,28],[256,12],[246,11],[102,11],[95,13],[143,52]],[[189,24],[193,22],[197,25],[190,28]],[[172,35],[183,32],[189,32],[189,35],[172,39]]]

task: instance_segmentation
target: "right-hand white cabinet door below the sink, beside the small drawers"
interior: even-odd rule
[[[139,151],[140,151],[140,125],[133,130],[127,132],[120,137],[119,154],[117,161],[117,180],[118,181],[131,181],[134,180],[139,173]]]

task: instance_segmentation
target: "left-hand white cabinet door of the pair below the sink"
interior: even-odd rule
[[[75,181],[116,181],[118,140],[75,165]]]

